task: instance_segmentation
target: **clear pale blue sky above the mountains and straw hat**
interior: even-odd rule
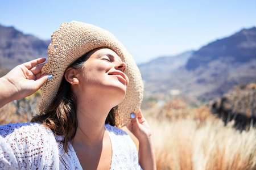
[[[1,1],[0,24],[43,40],[79,20],[112,32],[137,63],[172,56],[256,26],[256,1]],[[45,57],[45,56],[42,56]]]

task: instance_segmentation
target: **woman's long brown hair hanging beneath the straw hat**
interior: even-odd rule
[[[84,62],[90,57],[90,52],[84,54],[75,62],[67,67],[81,69]],[[67,70],[66,69],[66,70]],[[40,122],[47,126],[55,135],[63,135],[62,141],[64,151],[68,151],[68,142],[76,135],[77,118],[76,118],[76,98],[71,91],[71,84],[67,82],[63,76],[57,95],[53,99],[51,105],[46,110],[32,118],[31,122]],[[117,106],[112,108],[106,118],[105,124],[115,126],[114,113]]]

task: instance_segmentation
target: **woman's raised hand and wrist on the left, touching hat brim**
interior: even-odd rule
[[[34,59],[16,66],[0,78],[0,107],[16,99],[22,99],[39,90],[49,75],[41,73],[45,58]]]

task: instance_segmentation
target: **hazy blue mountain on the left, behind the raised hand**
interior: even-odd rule
[[[0,25],[0,67],[10,70],[31,59],[47,58],[50,42],[32,35],[24,35],[14,27]]]

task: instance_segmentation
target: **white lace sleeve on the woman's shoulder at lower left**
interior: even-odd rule
[[[36,123],[0,126],[0,169],[52,169],[59,155],[51,130]]]

